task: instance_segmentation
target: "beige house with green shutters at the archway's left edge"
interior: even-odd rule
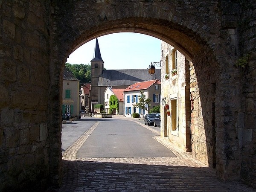
[[[70,116],[79,116],[81,108],[79,90],[79,79],[65,68],[63,73],[62,114],[70,113]]]

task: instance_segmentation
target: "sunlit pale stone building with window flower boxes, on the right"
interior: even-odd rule
[[[190,131],[190,72],[185,56],[169,44],[162,42],[162,99],[161,136],[181,148],[191,151]],[[170,115],[166,112],[170,111]]]

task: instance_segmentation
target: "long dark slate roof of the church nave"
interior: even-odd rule
[[[148,69],[103,70],[98,86],[130,86],[136,82],[154,79]],[[156,69],[156,79],[161,79],[161,69]]]

